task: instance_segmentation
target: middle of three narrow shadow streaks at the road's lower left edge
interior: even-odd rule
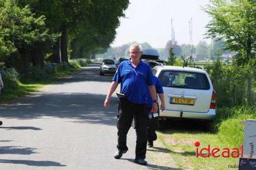
[[[14,146],[0,147],[0,154],[17,154],[17,155],[30,155],[35,154],[35,148],[21,148]]]

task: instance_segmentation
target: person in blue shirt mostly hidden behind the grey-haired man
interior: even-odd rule
[[[154,85],[156,87],[156,92],[159,95],[159,98],[161,100],[161,106],[160,109],[164,111],[165,109],[165,103],[164,103],[164,95],[163,95],[163,87],[162,83],[160,80],[154,76]],[[158,104],[158,103],[157,103]],[[147,93],[147,111],[150,112],[152,108],[153,102],[152,98],[150,95],[150,91]],[[156,134],[156,129],[158,128],[158,117],[159,117],[159,109],[157,113],[153,114],[152,117],[150,118],[150,125],[147,128],[147,145],[148,147],[152,148],[153,147],[153,141],[157,140],[157,134]]]

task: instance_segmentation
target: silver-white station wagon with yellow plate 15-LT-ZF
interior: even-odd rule
[[[215,118],[216,93],[205,70],[162,65],[154,67],[153,74],[164,91],[166,108],[160,112],[160,128],[166,119],[203,120],[208,125]]]

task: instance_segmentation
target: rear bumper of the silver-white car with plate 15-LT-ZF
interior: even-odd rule
[[[216,117],[216,109],[209,109],[206,113],[164,110],[160,111],[160,117],[212,120]]]

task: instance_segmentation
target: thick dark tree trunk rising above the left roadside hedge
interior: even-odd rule
[[[67,42],[67,25],[66,25],[66,23],[62,23],[62,25],[61,25],[60,53],[61,53],[61,61],[62,62],[69,62],[69,60],[68,60],[68,42]]]

